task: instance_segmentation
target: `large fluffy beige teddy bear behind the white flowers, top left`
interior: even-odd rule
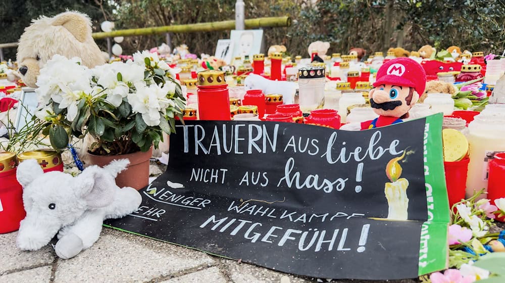
[[[19,39],[17,61],[26,85],[36,87],[40,68],[55,54],[77,56],[89,68],[106,63],[91,37],[91,20],[78,12],[65,12],[53,18],[41,16],[25,29]]]

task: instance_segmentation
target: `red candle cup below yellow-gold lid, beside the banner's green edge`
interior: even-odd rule
[[[468,157],[460,161],[443,162],[449,207],[465,199],[469,162],[470,158]]]

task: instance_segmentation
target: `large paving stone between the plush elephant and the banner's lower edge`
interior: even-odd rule
[[[91,248],[58,261],[54,282],[144,282],[214,264],[204,253],[104,228]]]

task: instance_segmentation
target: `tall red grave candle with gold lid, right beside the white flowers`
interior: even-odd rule
[[[230,96],[225,72],[198,72],[198,112],[200,120],[230,120]]]

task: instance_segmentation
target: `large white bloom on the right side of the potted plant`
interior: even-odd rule
[[[160,112],[164,114],[168,106],[174,106],[174,102],[167,99],[170,87],[170,84],[166,84],[164,87],[156,84],[149,86],[135,84],[136,93],[128,95],[128,103],[132,107],[132,112],[142,114],[146,125],[158,126],[161,120]]]

